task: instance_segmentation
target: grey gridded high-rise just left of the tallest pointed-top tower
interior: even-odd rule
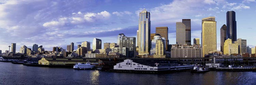
[[[120,53],[123,53],[123,48],[128,48],[128,57],[136,56],[136,38],[135,37],[123,37],[120,38]],[[127,54],[126,54],[127,55]]]

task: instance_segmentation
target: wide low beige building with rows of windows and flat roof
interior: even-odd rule
[[[200,45],[172,45],[171,57],[203,57]]]

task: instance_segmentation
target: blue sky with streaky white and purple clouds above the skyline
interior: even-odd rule
[[[16,52],[33,44],[52,51],[53,47],[66,49],[71,42],[76,49],[83,41],[92,45],[93,38],[116,43],[120,33],[137,36],[144,8],[151,14],[151,33],[156,27],[169,28],[169,44],[176,43],[176,22],[191,19],[191,41],[201,40],[202,18],[215,16],[217,50],[226,12],[235,11],[237,38],[255,47],[255,4],[255,0],[0,0],[0,50],[16,43]]]

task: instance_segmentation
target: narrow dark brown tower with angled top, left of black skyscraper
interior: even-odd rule
[[[226,40],[226,30],[227,30],[227,26],[226,26],[226,24],[224,24],[221,27],[221,52],[222,53],[223,53],[223,46],[224,46],[224,43],[225,43],[225,40]]]

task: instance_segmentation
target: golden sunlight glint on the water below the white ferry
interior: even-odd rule
[[[90,84],[97,84],[99,85],[99,71],[98,70],[93,70],[91,73],[90,73]]]

